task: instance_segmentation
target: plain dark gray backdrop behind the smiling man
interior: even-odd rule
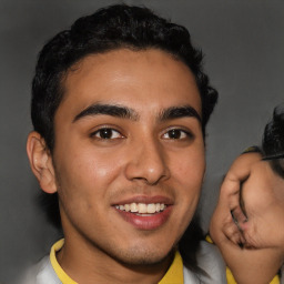
[[[26,156],[30,83],[37,53],[78,17],[116,1],[0,0],[0,280],[48,253],[58,232],[36,205],[39,187]],[[189,28],[220,91],[207,128],[201,212],[206,229],[219,184],[243,149],[257,144],[274,105],[284,102],[284,1],[152,0],[145,4]]]

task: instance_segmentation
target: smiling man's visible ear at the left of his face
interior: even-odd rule
[[[36,131],[31,132],[28,136],[27,153],[31,170],[38,179],[41,189],[47,193],[57,192],[55,174],[50,150],[44,139]]]

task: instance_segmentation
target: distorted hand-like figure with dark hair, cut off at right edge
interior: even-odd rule
[[[211,221],[211,236],[236,283],[284,283],[283,223],[284,108],[278,106],[262,150],[241,155],[230,169]],[[235,281],[230,276],[229,283]]]

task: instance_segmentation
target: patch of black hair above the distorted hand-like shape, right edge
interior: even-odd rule
[[[273,119],[265,126],[262,150],[264,160],[284,179],[284,104],[274,109]]]

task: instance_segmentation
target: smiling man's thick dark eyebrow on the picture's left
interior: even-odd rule
[[[93,116],[98,114],[105,114],[105,115],[111,115],[111,116],[121,118],[121,119],[130,119],[133,121],[136,121],[139,119],[138,113],[130,108],[122,106],[119,104],[95,103],[95,104],[89,105],[79,114],[77,114],[75,118],[73,119],[73,122],[85,116]]]

